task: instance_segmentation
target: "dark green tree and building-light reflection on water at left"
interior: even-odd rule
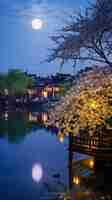
[[[32,131],[44,127],[47,112],[5,112],[0,115],[0,137],[18,143]]]

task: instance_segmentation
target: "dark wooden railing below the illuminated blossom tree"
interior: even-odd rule
[[[99,159],[112,159],[112,140],[108,138],[82,138],[69,136],[70,152],[79,152]]]

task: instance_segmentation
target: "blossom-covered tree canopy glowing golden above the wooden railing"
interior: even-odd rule
[[[93,134],[112,117],[112,69],[94,66],[76,76],[74,85],[50,112],[48,124],[63,133]]]

